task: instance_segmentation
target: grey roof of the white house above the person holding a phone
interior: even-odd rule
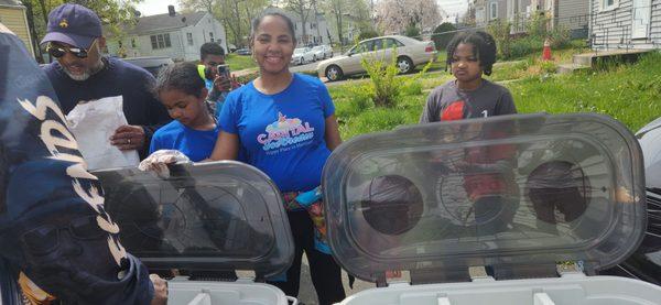
[[[205,14],[207,12],[176,13],[174,17],[167,13],[142,17],[138,19],[136,26],[127,28],[124,31],[129,35],[141,35],[163,30],[181,29],[197,24]]]

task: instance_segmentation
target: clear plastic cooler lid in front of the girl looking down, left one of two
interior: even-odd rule
[[[150,268],[285,271],[294,243],[277,186],[234,161],[171,166],[169,178],[137,168],[98,171],[122,246]]]

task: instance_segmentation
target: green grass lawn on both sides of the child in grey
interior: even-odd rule
[[[555,52],[554,56],[565,61],[571,52]],[[553,63],[528,57],[496,65],[489,78],[510,89],[523,113],[598,112],[614,117],[631,131],[661,117],[661,53],[646,55],[636,64],[571,75],[549,74],[554,67]],[[403,89],[393,108],[373,107],[367,81],[330,86],[343,139],[416,123],[430,90],[452,78],[443,70],[398,78]]]

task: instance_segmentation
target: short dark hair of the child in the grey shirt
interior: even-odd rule
[[[452,57],[459,44],[473,45],[473,54],[479,59],[485,75],[491,75],[494,63],[496,63],[496,41],[483,31],[468,31],[457,33],[447,44],[447,66],[452,65]]]

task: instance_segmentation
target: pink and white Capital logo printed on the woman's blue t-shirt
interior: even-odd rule
[[[314,128],[301,119],[288,119],[278,112],[278,120],[267,126],[267,133],[257,135],[257,142],[269,153],[283,152],[308,144],[314,138]]]

